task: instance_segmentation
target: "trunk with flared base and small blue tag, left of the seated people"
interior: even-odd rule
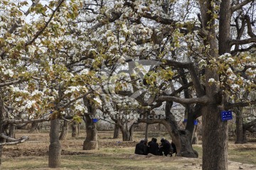
[[[84,98],[85,106],[87,106],[88,114],[85,114],[85,129],[86,129],[86,138],[83,143],[82,149],[84,150],[91,150],[91,149],[98,149],[99,144],[97,141],[97,128],[96,123],[93,122],[93,118],[95,117],[96,108],[95,106],[90,103],[87,98]],[[92,118],[90,118],[92,115]]]

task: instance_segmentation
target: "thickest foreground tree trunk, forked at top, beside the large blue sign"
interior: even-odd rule
[[[203,28],[208,31],[204,45],[208,45],[206,54],[208,61],[218,55],[230,53],[230,0],[220,2],[219,40],[216,40],[215,1],[199,1]],[[213,80],[209,81],[209,80]],[[206,66],[206,96],[210,99],[203,108],[203,170],[228,169],[228,122],[222,121],[220,111],[223,111],[224,96],[220,93],[218,69]]]

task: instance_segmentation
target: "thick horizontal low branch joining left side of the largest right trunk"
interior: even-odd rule
[[[174,101],[182,104],[198,103],[201,105],[206,105],[210,101],[210,98],[208,98],[207,96],[202,96],[200,98],[178,98],[174,96],[159,96],[156,101]]]

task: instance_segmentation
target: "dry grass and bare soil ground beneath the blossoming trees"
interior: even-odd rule
[[[2,169],[50,169],[48,168],[48,132],[16,132],[16,138],[28,135],[30,140],[20,145],[5,146]],[[134,132],[133,142],[112,139],[112,131],[98,132],[100,149],[83,151],[85,134],[61,141],[62,165],[59,169],[201,169],[202,146],[194,145],[199,153],[198,159],[183,157],[160,157],[136,155],[134,147],[144,138],[143,132]],[[122,134],[120,134],[122,137]],[[169,139],[165,132],[149,132],[149,139],[161,137]],[[215,146],[213,146],[215,147]],[[229,144],[228,169],[256,169],[256,142],[245,145]],[[218,157],[218,155],[216,155]]]

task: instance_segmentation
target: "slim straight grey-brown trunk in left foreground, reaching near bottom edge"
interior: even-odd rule
[[[50,120],[50,146],[48,158],[48,166],[50,168],[60,167],[61,145],[58,132],[59,128],[60,120],[58,118]]]

